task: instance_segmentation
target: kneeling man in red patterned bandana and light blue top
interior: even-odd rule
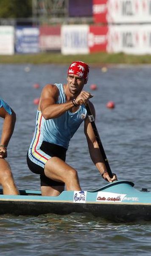
[[[106,170],[85,104],[92,95],[83,90],[87,84],[89,66],[74,61],[67,71],[67,84],[47,84],[41,93],[36,114],[36,128],[28,149],[29,169],[40,175],[42,195],[57,196],[64,190],[81,191],[77,171],[65,163],[70,139],[84,121],[90,157],[102,177],[108,182],[112,178]],[[95,116],[91,102],[89,106]]]

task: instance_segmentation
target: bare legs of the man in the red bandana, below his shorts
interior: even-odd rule
[[[46,177],[59,182],[64,182],[67,190],[81,191],[76,170],[59,157],[50,158],[45,164],[44,172]],[[62,191],[60,191],[59,188],[53,186],[49,190],[49,195],[51,193],[51,195],[59,195],[60,192]]]

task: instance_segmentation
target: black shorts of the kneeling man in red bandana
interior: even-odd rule
[[[67,151],[66,148],[43,141],[40,149],[44,153],[48,154],[50,157],[59,157],[60,159],[62,159],[65,162],[66,151]],[[29,169],[32,172],[40,175],[40,185],[41,186],[64,186],[63,182],[51,180],[48,177],[46,177],[44,168],[37,165],[36,163],[32,162],[29,159],[28,154],[27,154],[27,164],[28,164]]]

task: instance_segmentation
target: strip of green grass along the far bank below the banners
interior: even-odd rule
[[[0,55],[0,64],[68,64],[81,60],[88,64],[151,64],[151,55],[109,54],[106,52],[88,55],[62,55],[60,53],[42,52],[38,54]]]

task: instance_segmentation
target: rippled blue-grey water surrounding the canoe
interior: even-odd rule
[[[47,83],[66,82],[66,65],[0,65],[0,96],[17,113],[8,160],[20,189],[39,189],[39,177],[28,170],[26,152],[34,132],[33,100]],[[91,68],[96,125],[112,172],[135,188],[151,189],[151,72],[145,67]],[[33,84],[40,88],[34,89]],[[115,102],[115,109],[106,102]],[[0,123],[2,120],[0,120]],[[67,163],[78,170],[82,189],[106,185],[90,160],[81,126],[71,140]],[[138,213],[139,214],[139,213]],[[150,255],[150,223],[111,223],[88,214],[0,216],[0,253],[5,256]]]

